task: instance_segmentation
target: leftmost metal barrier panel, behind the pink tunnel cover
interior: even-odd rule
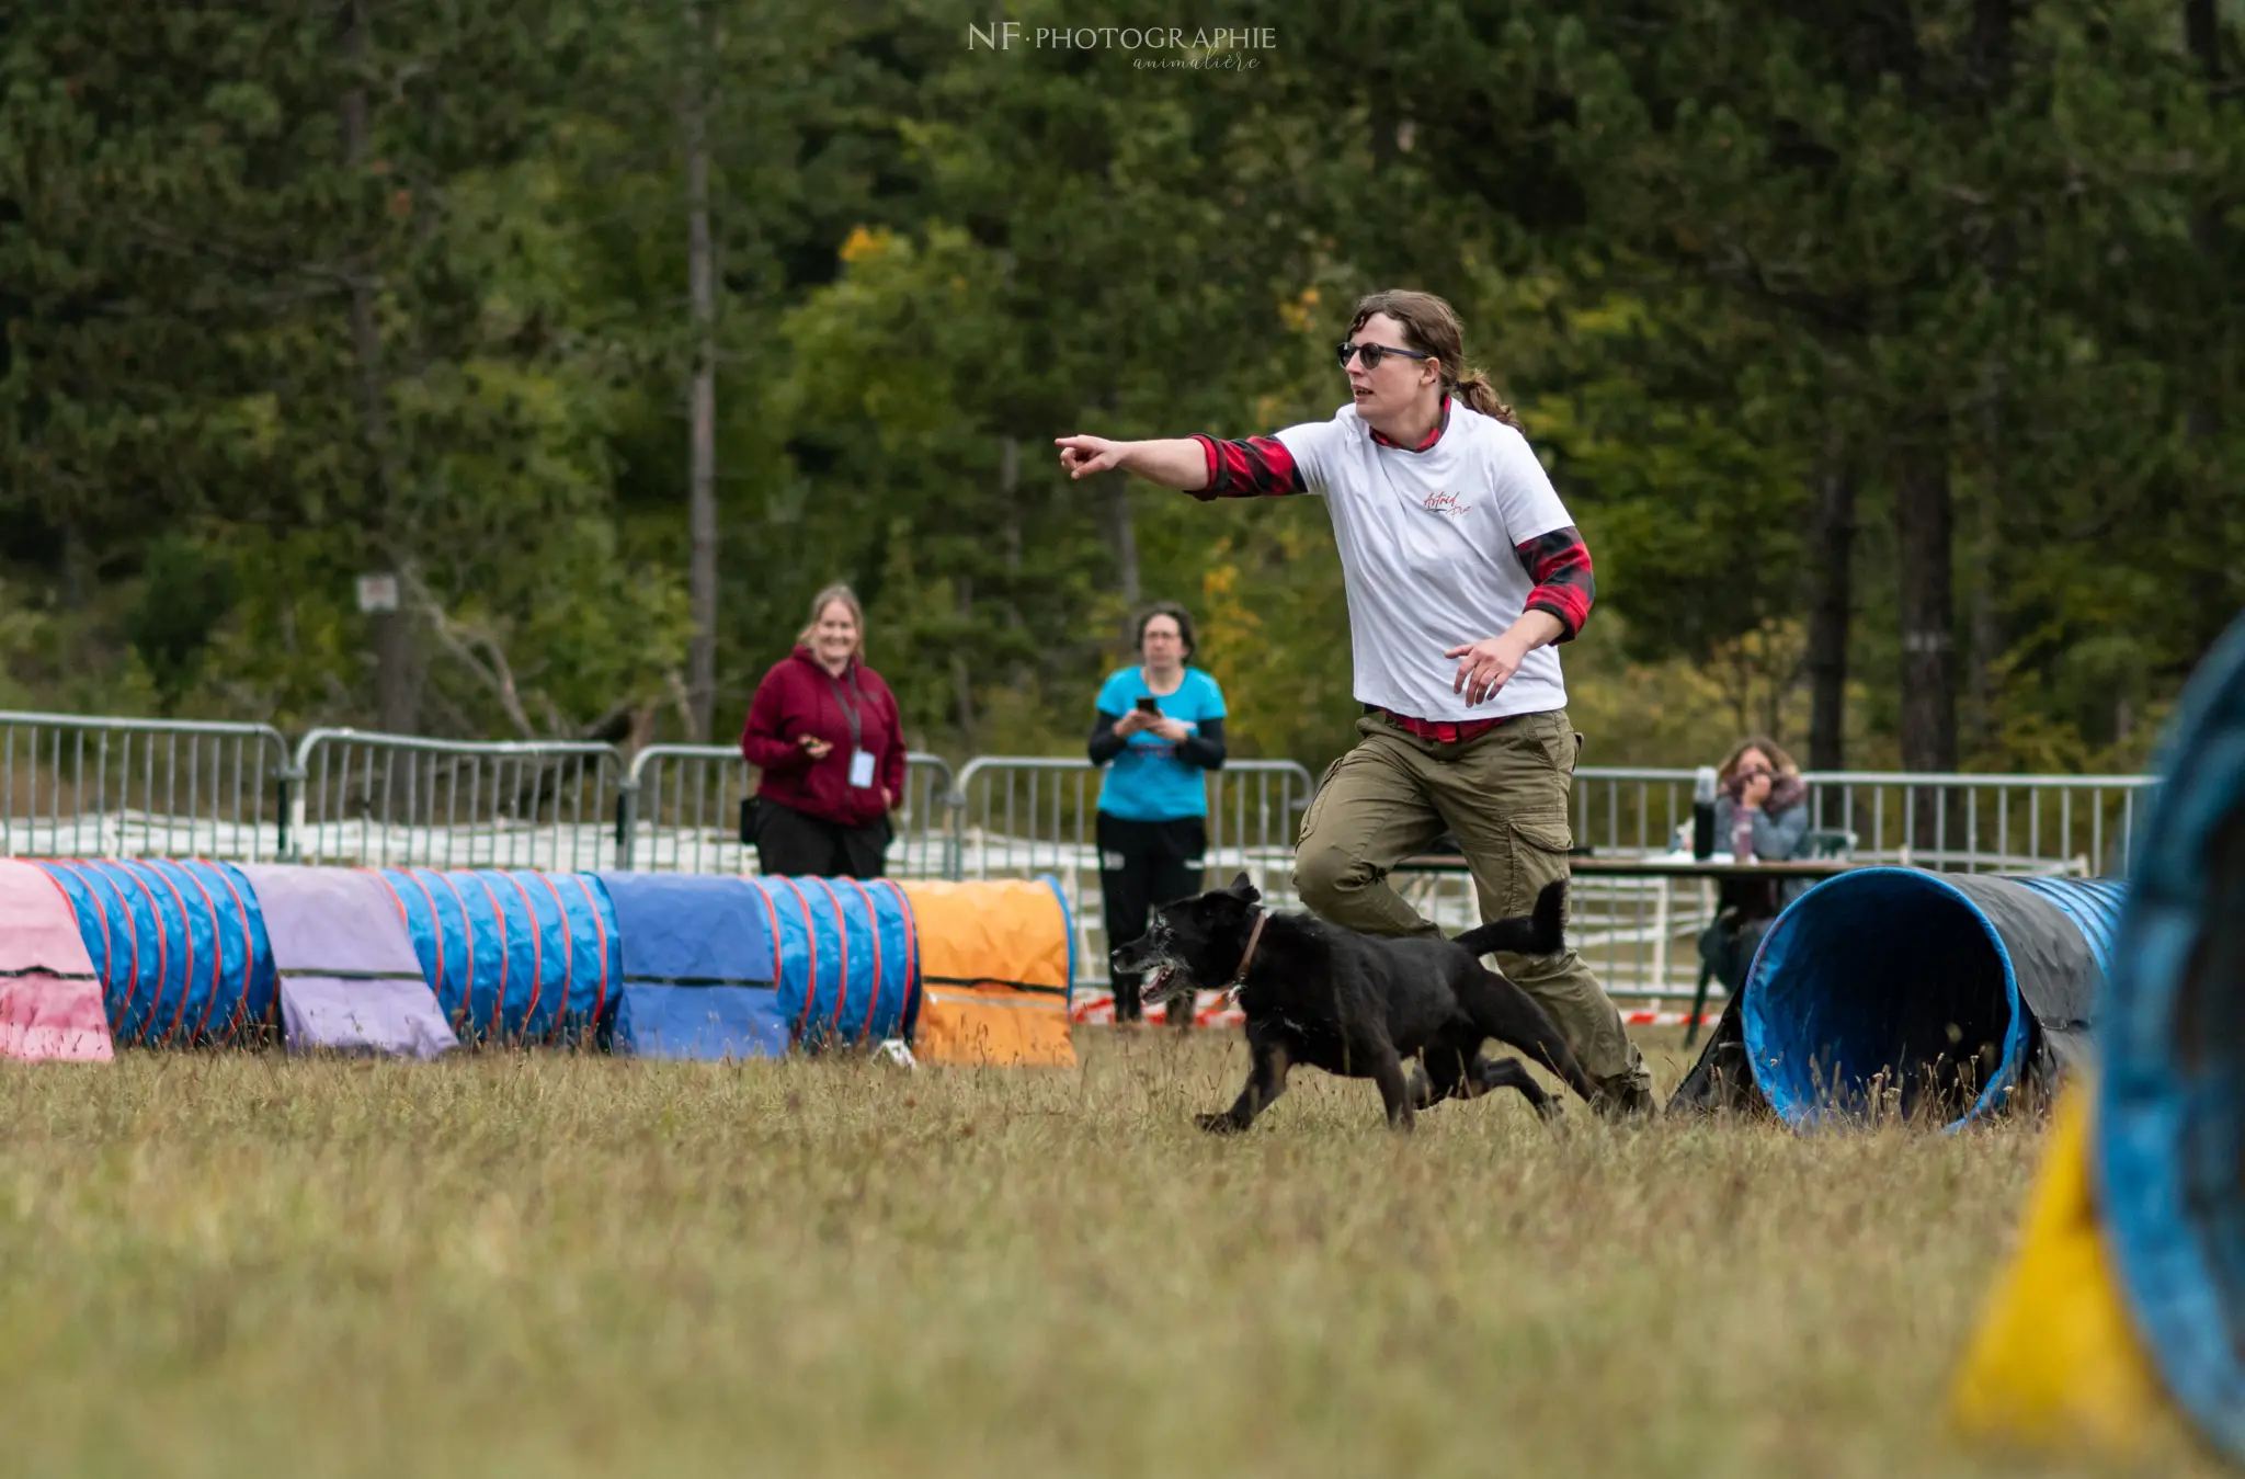
[[[287,853],[287,741],[267,725],[0,714],[0,853]]]

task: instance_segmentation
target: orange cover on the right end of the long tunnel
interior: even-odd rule
[[[934,1064],[1073,1066],[1075,931],[1060,880],[898,889],[920,940],[914,1053]]]

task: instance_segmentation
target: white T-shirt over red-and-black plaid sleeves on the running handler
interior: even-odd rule
[[[1343,406],[1273,438],[1208,451],[1194,498],[1322,494],[1349,592],[1356,698],[1444,725],[1567,705],[1556,646],[1531,651],[1495,698],[1468,709],[1453,691],[1453,646],[1549,610],[1560,642],[1583,631],[1596,595],[1589,550],[1529,440],[1448,397],[1432,435],[1399,447]]]

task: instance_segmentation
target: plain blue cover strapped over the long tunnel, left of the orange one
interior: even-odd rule
[[[626,1057],[779,1057],[772,904],[745,878],[602,873],[624,943],[608,1050]]]

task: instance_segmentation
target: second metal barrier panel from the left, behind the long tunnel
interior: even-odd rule
[[[624,765],[590,743],[312,729],[296,777],[299,862],[575,873],[606,864]]]

